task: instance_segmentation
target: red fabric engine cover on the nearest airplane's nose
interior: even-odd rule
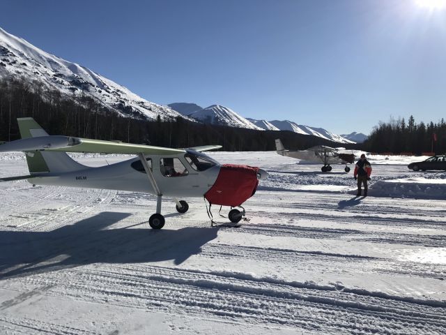
[[[204,197],[211,204],[240,206],[254,195],[259,184],[258,171],[259,168],[252,166],[224,164],[214,185]]]

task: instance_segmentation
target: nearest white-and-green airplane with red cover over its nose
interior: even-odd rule
[[[229,220],[245,215],[241,204],[254,195],[259,179],[268,172],[247,165],[220,164],[202,151],[220,149],[208,145],[190,149],[170,149],[119,141],[90,140],[69,136],[50,136],[31,117],[17,119],[21,140],[0,143],[0,152],[24,151],[29,175],[0,181],[27,179],[33,185],[105,188],[157,195],[156,212],[148,223],[153,229],[164,226],[162,197],[176,202],[185,213],[189,205],[178,198],[206,198],[209,204],[240,207],[229,211]],[[134,154],[128,161],[91,168],[74,161],[67,152]],[[212,218],[211,218],[211,222]]]

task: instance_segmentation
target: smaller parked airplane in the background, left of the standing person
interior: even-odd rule
[[[345,154],[340,151],[344,148],[331,148],[323,145],[309,148],[307,150],[286,150],[282,141],[276,140],[277,154],[301,159],[313,163],[323,163],[322,172],[329,172],[332,170],[330,164],[346,164],[345,172],[350,172],[347,164],[352,164],[355,161],[354,154]]]

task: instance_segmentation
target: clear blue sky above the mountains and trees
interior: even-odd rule
[[[446,9],[420,1],[3,0],[0,27],[155,103],[369,133],[446,117]]]

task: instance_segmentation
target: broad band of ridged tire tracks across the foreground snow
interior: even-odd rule
[[[444,301],[403,299],[231,272],[128,265],[56,271],[20,278],[20,282],[54,285],[45,295],[56,297],[325,333],[446,332]],[[17,279],[10,285],[17,285]]]

